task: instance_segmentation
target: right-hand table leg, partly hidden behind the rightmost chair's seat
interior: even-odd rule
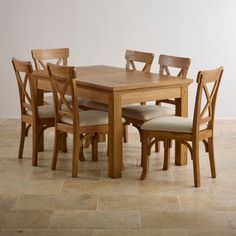
[[[188,87],[181,88],[181,98],[176,100],[176,111],[177,116],[188,116]],[[178,166],[187,165],[187,147],[180,144],[178,141],[175,142],[175,164]]]

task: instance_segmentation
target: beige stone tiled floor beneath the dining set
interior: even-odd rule
[[[72,179],[71,138],[51,171],[53,130],[46,132],[45,152],[32,167],[31,136],[18,160],[19,120],[0,120],[0,235],[236,235],[236,121],[216,122],[216,179],[201,146],[201,188],[193,187],[190,158],[187,166],[175,166],[173,152],[168,171],[163,153],[152,152],[148,179],[138,180],[140,144],[130,131],[122,178],[107,178],[106,145],[99,144],[100,160],[92,162],[86,150],[87,161]]]

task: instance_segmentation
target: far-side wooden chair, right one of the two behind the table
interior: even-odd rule
[[[191,60],[189,58],[160,55],[158,62],[160,65],[159,74],[170,75],[171,68],[174,68],[174,69],[179,69],[177,76],[181,78],[186,78],[190,62]],[[162,100],[162,102],[175,105],[174,100]],[[122,116],[126,119],[126,124],[132,124],[134,127],[138,129],[139,133],[141,131],[140,127],[144,122],[157,117],[172,115],[172,114],[174,115],[175,111],[173,109],[160,106],[160,101],[156,101],[156,105],[145,105],[145,106],[130,105],[122,109]],[[125,137],[127,139],[127,133],[125,134]],[[156,152],[158,152],[159,143],[156,142],[155,144],[156,144],[155,150]]]

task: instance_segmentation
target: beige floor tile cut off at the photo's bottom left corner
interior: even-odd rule
[[[89,229],[5,229],[1,236],[93,236]]]

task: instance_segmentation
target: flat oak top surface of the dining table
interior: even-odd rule
[[[46,78],[47,72],[34,71],[33,75]],[[95,65],[76,67],[77,83],[85,87],[93,87],[106,91],[126,91],[157,87],[187,86],[192,79],[176,76],[159,75],[141,71],[127,71],[124,68]]]

